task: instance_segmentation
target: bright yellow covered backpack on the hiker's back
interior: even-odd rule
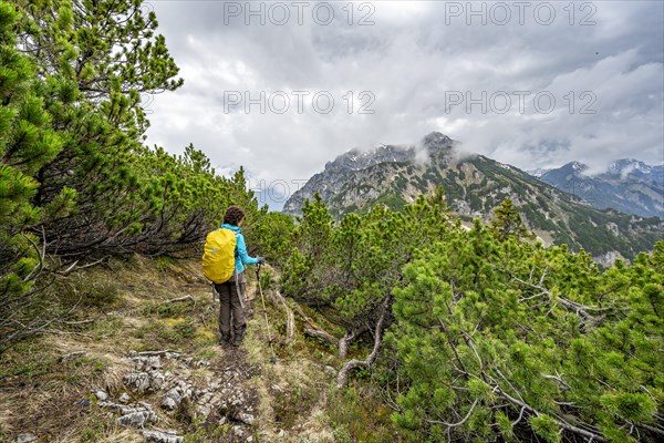
[[[222,284],[235,271],[236,233],[219,228],[209,233],[203,251],[203,274],[215,284]]]

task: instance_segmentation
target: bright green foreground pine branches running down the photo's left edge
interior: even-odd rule
[[[44,258],[41,238],[28,230],[44,213],[31,203],[32,176],[62,148],[35,92],[35,68],[14,47],[17,20],[13,6],[0,2],[0,351],[42,324],[23,318]]]

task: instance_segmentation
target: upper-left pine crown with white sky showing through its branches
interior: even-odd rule
[[[149,94],[183,85],[149,3],[143,0],[18,0],[21,49],[41,76],[75,82],[92,103],[121,109],[113,123],[141,135]],[[114,111],[111,111],[115,114]]]

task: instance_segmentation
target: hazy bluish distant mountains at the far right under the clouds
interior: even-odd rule
[[[651,166],[622,158],[601,174],[590,175],[588,169],[587,165],[572,162],[559,168],[529,173],[592,207],[664,218],[664,165]]]

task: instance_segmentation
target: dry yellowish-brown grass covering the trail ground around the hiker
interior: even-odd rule
[[[61,334],[20,342],[1,356],[0,441],[32,432],[40,441],[52,442],[143,442],[139,431],[115,424],[92,392],[104,390],[117,400],[126,391],[123,378],[133,370],[128,351],[175,349],[209,362],[183,368],[179,361],[163,359],[163,371],[179,373],[196,389],[221,379],[225,373],[219,369],[232,363],[231,356],[246,354],[243,364],[250,377],[246,383],[259,396],[255,441],[397,442],[391,411],[365,380],[354,377],[349,390],[334,388],[335,379],[324,367],[341,367],[336,349],[304,337],[301,330],[293,343],[283,344],[281,307],[267,301],[263,311],[256,277],[252,272],[248,277],[256,312],[248,320],[240,351],[217,344],[218,301],[212,301],[210,287],[200,277],[198,260],[133,256],[56,280],[45,293],[51,309],[63,312],[79,303],[75,320],[80,322],[63,327]],[[274,290],[267,271],[261,272],[261,285],[263,291]],[[168,302],[187,295],[194,300]],[[304,309],[322,328],[342,334]],[[268,337],[273,339],[271,346]],[[83,354],[66,357],[76,352]],[[351,352],[362,356],[364,351],[353,348]],[[157,405],[163,394],[131,392],[132,402]],[[90,405],[81,406],[87,404],[81,403],[85,400]],[[157,427],[178,430],[187,443],[234,439],[232,424],[219,424],[215,413],[209,420],[195,419],[191,404],[173,413],[156,410]]]

